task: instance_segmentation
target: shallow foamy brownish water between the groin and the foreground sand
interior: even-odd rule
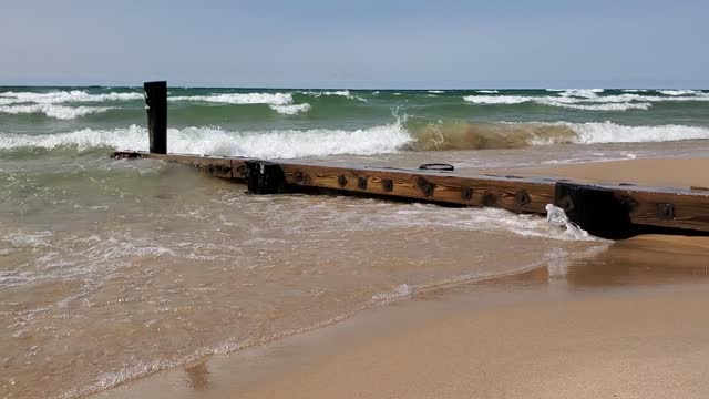
[[[607,245],[500,209],[247,195],[148,160],[9,161],[0,180],[11,398],[101,390]]]

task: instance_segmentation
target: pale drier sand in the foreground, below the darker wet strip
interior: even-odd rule
[[[707,397],[707,286],[614,294],[429,319],[345,344],[238,397]]]

